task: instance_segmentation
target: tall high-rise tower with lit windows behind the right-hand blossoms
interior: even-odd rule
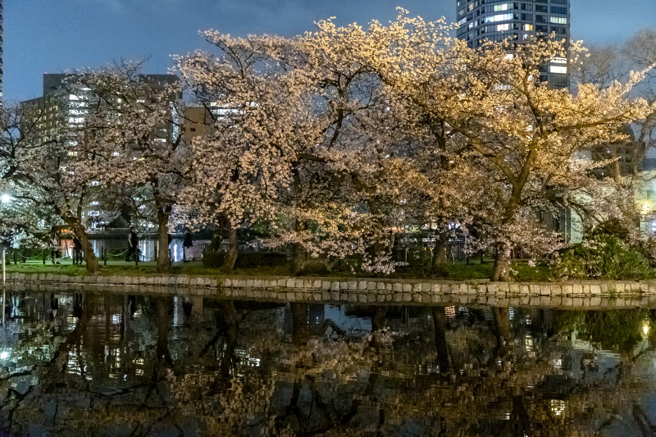
[[[457,37],[471,48],[483,41],[513,39],[522,43],[539,35],[569,41],[569,0],[457,0]],[[569,87],[567,58],[544,65],[540,80],[554,88]]]

